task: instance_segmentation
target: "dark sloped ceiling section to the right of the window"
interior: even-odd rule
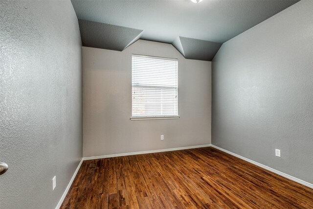
[[[222,44],[179,36],[173,46],[186,59],[212,61]]]

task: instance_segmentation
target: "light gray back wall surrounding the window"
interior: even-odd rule
[[[130,120],[132,53],[178,59],[179,119]],[[211,62],[143,40],[122,52],[83,47],[83,86],[84,157],[211,143]]]

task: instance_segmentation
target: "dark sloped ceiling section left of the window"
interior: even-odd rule
[[[83,46],[123,51],[140,38],[143,30],[78,20]]]

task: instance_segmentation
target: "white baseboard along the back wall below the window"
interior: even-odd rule
[[[113,157],[129,156],[129,155],[141,155],[141,154],[149,154],[149,153],[156,153],[156,152],[168,152],[168,151],[176,151],[176,150],[183,150],[183,149],[194,149],[194,148],[209,147],[209,146],[211,146],[211,144],[203,144],[203,145],[187,146],[187,147],[177,147],[177,148],[170,148],[170,149],[158,149],[158,150],[141,151],[141,152],[129,152],[129,153],[102,155],[102,156],[95,156],[95,157],[85,157],[85,158],[83,158],[83,160],[87,161],[87,160],[113,158]]]

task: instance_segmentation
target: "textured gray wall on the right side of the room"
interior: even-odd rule
[[[309,183],[312,11],[299,1],[224,43],[212,62],[212,143]]]

